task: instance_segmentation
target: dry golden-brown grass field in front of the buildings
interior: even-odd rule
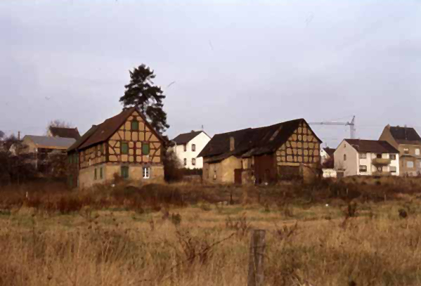
[[[0,191],[0,285],[420,285],[417,179]]]

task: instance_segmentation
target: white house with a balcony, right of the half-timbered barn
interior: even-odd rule
[[[338,178],[399,176],[399,151],[386,141],[344,139],[334,153]]]

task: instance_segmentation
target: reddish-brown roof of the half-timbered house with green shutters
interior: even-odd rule
[[[88,148],[91,145],[95,145],[104,141],[107,141],[108,138],[114,134],[117,129],[119,129],[124,122],[126,122],[127,118],[134,112],[137,111],[140,117],[142,117],[143,121],[145,122],[145,125],[148,126],[150,131],[153,132],[162,143],[167,143],[167,140],[162,137],[161,134],[158,134],[155,129],[153,129],[152,126],[148,123],[148,121],[143,117],[142,113],[136,110],[136,108],[128,108],[127,110],[123,110],[118,115],[115,115],[114,117],[106,119],[103,123],[99,124],[94,131],[92,131],[92,134],[88,136],[86,141],[82,143],[82,145],[79,145],[78,149],[84,149]]]

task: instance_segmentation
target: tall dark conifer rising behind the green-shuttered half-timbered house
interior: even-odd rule
[[[125,85],[124,96],[120,102],[124,109],[136,107],[143,112],[153,128],[164,133],[168,128],[167,112],[162,110],[162,100],[165,98],[160,86],[155,86],[153,79],[155,74],[146,65],[139,65],[130,72],[130,83]]]

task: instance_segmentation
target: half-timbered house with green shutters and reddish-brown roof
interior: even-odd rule
[[[93,125],[67,150],[69,185],[104,183],[115,174],[136,181],[163,181],[164,138],[136,110]]]

